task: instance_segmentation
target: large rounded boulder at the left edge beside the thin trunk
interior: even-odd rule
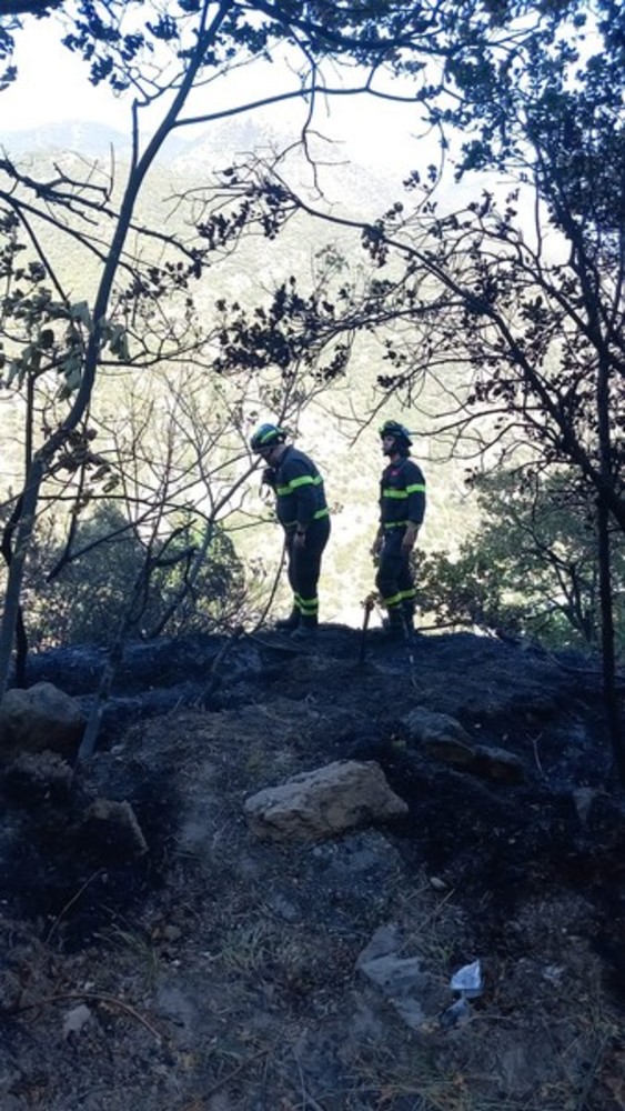
[[[73,752],[84,730],[84,717],[69,694],[53,683],[7,691],[0,702],[0,751]]]

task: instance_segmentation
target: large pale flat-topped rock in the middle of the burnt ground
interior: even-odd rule
[[[339,761],[266,788],[245,802],[253,833],[270,840],[333,837],[407,814],[375,763]]]

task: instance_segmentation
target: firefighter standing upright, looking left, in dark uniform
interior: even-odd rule
[[[414,632],[415,587],[410,565],[425,514],[425,479],[410,458],[410,432],[389,420],[380,429],[389,466],[380,483],[380,527],[371,550],[379,560],[375,585],[389,614],[393,638]]]

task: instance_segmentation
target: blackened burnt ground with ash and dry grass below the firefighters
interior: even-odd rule
[[[271,631],[130,647],[71,791],[4,769],[1,1111],[623,1111],[625,808],[595,663],[470,634],[359,647],[342,627],[312,652]],[[102,663],[51,652],[29,680],[88,709]],[[427,755],[415,708],[524,781]],[[246,797],[346,758],[407,817],[251,835]],[[147,853],[85,825],[97,798],[132,805]],[[423,1021],[359,969],[376,931],[426,970]]]

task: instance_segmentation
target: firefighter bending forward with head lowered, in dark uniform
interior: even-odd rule
[[[323,479],[312,459],[285,443],[286,432],[276,424],[261,424],[250,447],[266,462],[263,481],[275,492],[275,512],[284,530],[289,582],[293,608],[281,629],[298,640],[316,634],[316,592],[321,558],[330,537],[330,513]]]

